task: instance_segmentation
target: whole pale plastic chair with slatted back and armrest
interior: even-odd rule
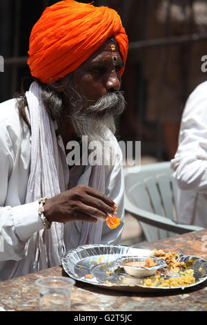
[[[125,210],[137,219],[146,241],[201,230],[177,219],[177,183],[170,162],[130,167],[125,172]]]

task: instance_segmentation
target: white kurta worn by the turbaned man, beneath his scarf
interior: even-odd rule
[[[24,256],[24,248],[30,237],[34,232],[43,230],[38,202],[25,204],[30,174],[30,140],[28,127],[19,120],[15,100],[0,104],[0,281],[25,274],[24,270],[17,270],[14,274],[11,270],[14,263]],[[121,149],[117,140],[113,142],[115,151],[120,155]],[[61,138],[58,145],[63,149]],[[72,185],[88,185],[92,168],[72,167]],[[118,205],[121,225],[111,230],[103,223],[101,243],[115,244],[119,243],[124,227],[124,174],[121,163],[107,166],[105,174],[105,194]],[[65,183],[68,184],[67,176]],[[64,250],[77,247],[81,224],[68,222],[64,225]]]

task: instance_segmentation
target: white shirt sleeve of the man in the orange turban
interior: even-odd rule
[[[15,177],[17,183],[22,181],[14,173],[20,154],[18,143],[15,145],[14,148],[7,127],[0,125],[0,261],[21,259],[30,236],[43,229],[38,202],[13,207],[8,204],[17,196],[18,188],[10,185],[10,178],[12,184],[15,184]]]

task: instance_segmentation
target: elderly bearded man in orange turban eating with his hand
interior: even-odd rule
[[[78,245],[119,243],[121,161],[70,166],[66,156],[81,136],[110,141],[121,156],[113,134],[127,51],[120,17],[106,7],[60,1],[32,28],[34,81],[0,105],[1,281],[59,265]]]

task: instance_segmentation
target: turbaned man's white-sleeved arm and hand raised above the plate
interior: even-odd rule
[[[8,183],[19,158],[18,150],[15,150],[15,153],[13,151],[12,140],[6,127],[0,125],[0,243],[3,248],[0,248],[0,261],[20,260],[23,257],[25,243],[34,232],[44,228],[38,214],[38,202],[17,206],[6,203],[10,201],[8,200]],[[18,182],[21,182],[21,179],[17,176]],[[14,194],[17,194],[17,191],[18,187],[13,189]],[[47,198],[44,215],[50,222],[94,223],[98,219],[106,221],[108,214],[115,212],[114,205],[110,197],[97,189],[77,185],[66,192]]]

